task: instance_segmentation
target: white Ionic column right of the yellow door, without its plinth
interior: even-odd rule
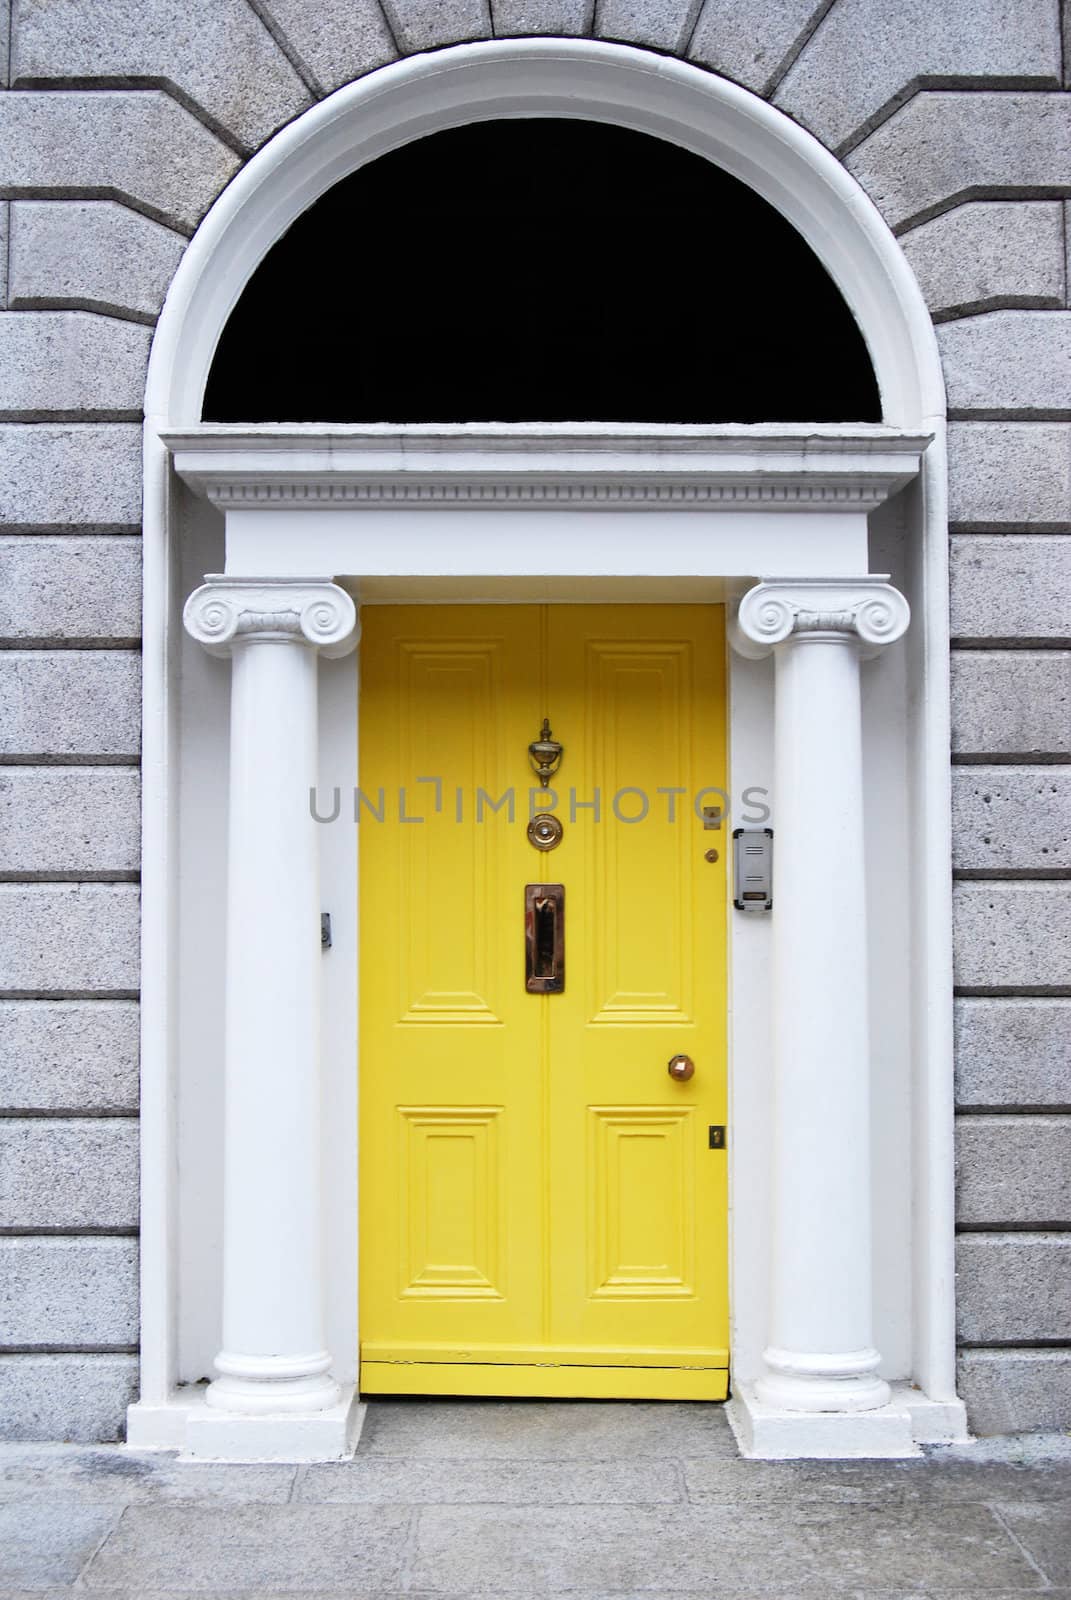
[[[775,651],[773,1238],[762,1405],[885,1405],[871,1285],[868,920],[860,658],[900,638],[882,578],[767,579],[736,618]]]

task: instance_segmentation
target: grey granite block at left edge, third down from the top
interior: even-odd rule
[[[13,200],[13,310],[82,307],[152,322],[186,242],[112,200]]]

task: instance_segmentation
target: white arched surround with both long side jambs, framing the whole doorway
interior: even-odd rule
[[[191,242],[149,362],[144,450],[142,1406],[168,1438],[174,1374],[174,747],[178,627],[162,434],[200,421],[219,334],[275,240],[328,187],[416,138],[499,117],[580,117],[669,139],[740,178],[808,242],[848,302],[885,424],[932,434],[911,506],[914,859],[914,1378],[954,1405],[949,710],[945,386],[914,275],[844,166],[765,101],[700,67],[624,45],[527,38],[456,45],[338,90],[272,138]],[[696,275],[696,304],[703,282]],[[155,1429],[155,1432],[154,1432]],[[178,1440],[176,1440],[178,1442]]]

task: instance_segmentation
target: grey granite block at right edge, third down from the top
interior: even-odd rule
[[[970,200],[900,240],[935,317],[1066,304],[1058,200]]]

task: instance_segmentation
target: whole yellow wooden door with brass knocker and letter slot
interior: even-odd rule
[[[722,610],[362,619],[362,1389],[724,1398]],[[565,891],[562,994],[525,987],[530,883]]]

